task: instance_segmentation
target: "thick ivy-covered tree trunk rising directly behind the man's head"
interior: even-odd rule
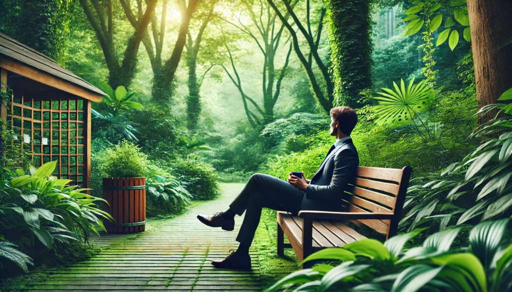
[[[353,106],[359,92],[372,88],[371,2],[326,0],[335,104]]]

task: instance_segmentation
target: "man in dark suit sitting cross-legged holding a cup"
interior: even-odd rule
[[[245,211],[245,218],[237,236],[240,245],[225,259],[212,261],[216,267],[228,269],[250,269],[249,247],[260,223],[262,208],[298,213],[301,210],[333,211],[342,209],[342,198],[348,184],[354,184],[359,166],[357,150],[350,133],[357,123],[354,109],[347,106],[332,108],[330,133],[336,142],[311,179],[289,174],[288,182],[268,174],[253,174],[242,192],[233,200],[225,212],[197,218],[209,227],[234,229],[234,216]]]

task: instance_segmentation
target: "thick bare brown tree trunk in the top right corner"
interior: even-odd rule
[[[480,109],[512,87],[512,5],[510,0],[467,0],[467,12]],[[492,117],[479,116],[478,124]]]

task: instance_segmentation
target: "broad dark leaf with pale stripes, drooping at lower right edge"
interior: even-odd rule
[[[473,254],[487,269],[499,248],[509,219],[481,222],[470,232],[470,247]]]

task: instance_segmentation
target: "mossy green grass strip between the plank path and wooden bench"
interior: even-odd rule
[[[285,249],[285,258],[278,256],[277,232],[275,211],[263,209],[253,245],[258,250],[260,278],[264,289],[300,268],[292,249]]]

